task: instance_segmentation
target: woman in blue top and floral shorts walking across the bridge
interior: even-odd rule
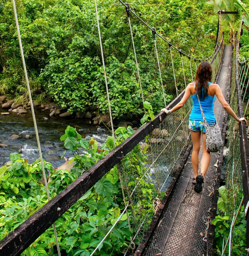
[[[182,97],[182,100],[175,105],[172,109],[168,110],[163,108],[161,111],[164,111],[166,114],[171,114],[177,109],[183,107],[185,102],[188,100],[189,96],[192,95],[193,99],[193,109],[189,116],[189,129],[191,134],[191,139],[193,142],[193,152],[192,152],[192,165],[194,170],[193,184],[195,184],[194,190],[197,193],[202,191],[202,183],[204,182],[204,177],[207,172],[209,162],[210,162],[210,152],[206,149],[206,135],[205,127],[203,126],[203,119],[201,115],[201,109],[198,102],[196,93],[199,96],[201,106],[204,112],[204,115],[210,125],[215,124],[214,116],[214,96],[218,98],[224,110],[227,111],[234,119],[238,122],[245,121],[244,117],[238,118],[234,113],[233,109],[224,99],[222,95],[221,88],[218,84],[213,84],[211,81],[212,78],[212,66],[209,62],[202,62],[196,71],[195,82],[188,84],[185,93]],[[199,165],[199,151],[201,148],[201,134],[202,134],[202,159],[201,159],[201,175],[198,175],[198,165]]]

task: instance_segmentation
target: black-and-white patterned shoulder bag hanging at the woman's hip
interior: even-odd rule
[[[195,87],[195,84],[194,84]],[[196,90],[195,90],[196,92]],[[200,104],[200,109],[201,109],[201,114],[203,118],[203,125],[206,130],[206,148],[208,152],[217,152],[221,149],[221,146],[223,144],[222,137],[221,137],[221,130],[220,127],[218,126],[216,120],[214,126],[210,126],[209,123],[207,122],[204,112],[201,107],[201,102],[199,99],[199,96],[196,92],[196,96],[198,98],[199,104]]]

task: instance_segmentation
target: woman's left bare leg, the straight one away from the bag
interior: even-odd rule
[[[194,177],[198,176],[198,166],[199,166],[199,152],[201,148],[201,131],[194,132],[190,130],[191,139],[193,142],[192,151],[192,165],[194,170]],[[206,144],[205,144],[206,147]]]

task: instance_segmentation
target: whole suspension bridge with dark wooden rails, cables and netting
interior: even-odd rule
[[[194,71],[197,69],[197,61],[209,60],[213,66],[212,82],[218,83],[222,89],[223,95],[226,100],[237,113],[238,116],[244,116],[243,103],[248,90],[249,77],[248,77],[248,60],[241,61],[239,53],[240,35],[242,33],[243,23],[241,23],[241,30],[239,31],[234,45],[224,45],[224,33],[221,31],[221,15],[226,12],[220,11],[217,40],[214,52],[206,59],[197,59],[191,57],[187,53],[177,49],[169,41],[167,41],[161,34],[157,33],[154,27],[150,27],[145,23],[132,9],[129,4],[120,3],[125,7],[128,15],[128,23],[131,32],[131,40],[133,43],[134,58],[137,68],[137,79],[141,89],[142,101],[144,101],[142,94],[142,83],[140,79],[139,63],[136,58],[136,50],[133,41],[132,25],[130,22],[130,15],[133,14],[140,20],[149,30],[152,31],[155,49],[157,39],[164,40],[169,45],[169,53],[171,57],[172,71],[174,74],[174,83],[177,97],[171,102],[167,108],[174,107],[183,94],[182,91],[179,95],[177,89],[177,82],[175,78],[174,59],[172,51],[179,52],[182,76],[184,77],[184,84],[187,81],[193,81]],[[15,4],[13,0],[15,10]],[[97,4],[95,1],[96,17]],[[15,14],[16,25],[19,33],[19,43],[21,48],[22,60],[28,84],[28,76],[25,68],[25,59],[22,52],[21,38],[18,27],[18,19]],[[98,22],[99,28],[99,22]],[[108,84],[105,72],[105,62],[101,43],[101,31],[99,28],[99,39],[101,46],[101,55],[103,62],[103,69],[105,74],[105,83],[108,96]],[[156,50],[157,53],[157,50]],[[188,69],[191,76],[186,77],[186,67],[183,59],[187,58],[189,61]],[[160,71],[159,58],[157,56],[158,68]],[[192,67],[193,65],[193,67]],[[161,75],[161,71],[160,71]],[[164,85],[161,78],[162,91],[164,92]],[[31,95],[30,99],[31,99]],[[109,96],[108,96],[109,99]],[[31,99],[31,107],[35,123],[34,109]],[[164,104],[166,106],[165,97]],[[246,104],[248,108],[249,101]],[[242,203],[245,209],[245,218],[247,220],[247,248],[249,248],[249,146],[247,133],[248,130],[244,122],[237,124],[234,120],[229,119],[227,113],[223,110],[222,105],[217,100],[214,104],[214,111],[217,123],[221,129],[223,138],[223,147],[220,152],[211,153],[210,166],[205,177],[203,191],[198,194],[193,190],[192,177],[193,168],[191,165],[191,150],[192,144],[190,142],[190,135],[188,130],[188,116],[191,111],[192,102],[191,98],[186,102],[183,108],[174,112],[172,115],[167,116],[165,113],[160,113],[154,120],[148,122],[126,139],[119,146],[115,147],[107,156],[101,159],[97,164],[91,167],[88,171],[84,172],[78,179],[70,184],[65,190],[59,193],[56,197],[49,200],[46,205],[36,211],[25,222],[19,225],[16,229],[10,232],[2,241],[0,241],[0,255],[1,256],[14,256],[20,255],[29,245],[31,245],[43,232],[45,232],[51,225],[54,227],[56,236],[55,222],[58,218],[63,216],[76,201],[78,201],[90,188],[100,180],[103,175],[110,171],[114,166],[119,170],[120,184],[122,186],[124,195],[123,211],[116,219],[115,223],[109,227],[104,237],[99,238],[99,244],[96,248],[91,250],[91,255],[103,246],[105,241],[108,241],[109,234],[117,225],[122,223],[122,216],[128,216],[128,224],[130,230],[133,230],[133,236],[130,237],[130,244],[123,255],[212,255],[214,229],[212,223],[216,216],[218,188],[221,182],[221,171],[223,165],[223,147],[227,134],[227,144],[229,145],[229,153],[226,156],[226,183],[231,190],[234,191],[234,204]],[[111,108],[109,105],[110,117]],[[112,117],[111,117],[112,123]],[[36,136],[37,132],[36,124]],[[112,124],[113,138],[115,142],[114,128]],[[227,132],[228,131],[228,132]],[[133,185],[130,185],[128,178],[130,173],[130,166],[133,164],[131,159],[137,154],[140,154],[141,147],[144,145],[149,146],[146,154],[146,164],[138,162],[136,168],[141,169],[141,172],[134,172]],[[40,150],[40,148],[39,148]],[[202,152],[200,151],[200,156]],[[40,158],[42,154],[40,151]],[[42,162],[42,161],[41,161]],[[43,163],[43,162],[42,162]],[[43,174],[45,174],[43,166]],[[46,181],[46,176],[45,179]],[[141,202],[148,198],[148,194],[141,191],[141,183],[150,182],[153,186],[151,192],[153,196],[153,212],[148,211],[146,205]],[[236,201],[235,185],[243,184],[243,198],[242,201]],[[46,184],[47,185],[47,184]],[[48,198],[49,198],[49,192]],[[49,198],[50,199],[50,198]],[[231,251],[231,239],[233,236],[233,226],[238,216],[237,209],[233,209],[233,221],[230,223],[230,239],[223,243],[223,252],[226,247]],[[82,234],[83,235],[83,234]],[[60,245],[57,242],[58,255],[61,255]],[[98,254],[100,255],[100,254]]]

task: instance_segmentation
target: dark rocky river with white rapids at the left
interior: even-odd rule
[[[0,166],[9,161],[9,154],[21,150],[21,156],[26,158],[29,163],[39,158],[38,146],[35,136],[34,123],[31,111],[27,114],[0,115],[0,144],[6,144],[8,147],[0,147]],[[6,109],[0,108],[0,113],[6,112]],[[77,119],[74,117],[62,118],[59,116],[49,116],[49,111],[35,109],[36,122],[41,143],[42,156],[47,162],[51,162],[54,167],[62,165],[65,160],[61,159],[65,151],[64,143],[60,141],[60,136],[65,133],[68,125],[76,127],[78,133],[86,139],[93,137],[101,145],[106,141],[110,132],[105,127],[96,128],[93,125],[85,124],[90,119]],[[48,117],[44,121],[43,117]],[[11,135],[17,134],[18,139],[12,139]],[[30,135],[26,138],[25,135]],[[71,157],[70,151],[65,156]]]

